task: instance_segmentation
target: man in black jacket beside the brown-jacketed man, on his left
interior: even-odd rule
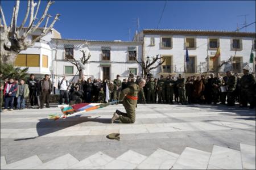
[[[27,80],[28,89],[30,90],[30,105],[31,107],[34,107],[34,105],[38,104],[37,99],[37,87],[38,87],[38,80],[35,79],[34,74],[30,74],[30,79]]]

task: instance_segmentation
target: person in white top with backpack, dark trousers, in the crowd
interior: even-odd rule
[[[65,104],[68,104],[68,86],[69,86],[69,82],[68,80],[66,80],[65,76],[60,80],[59,79],[59,83],[58,83],[58,88],[60,91],[60,100],[59,100],[59,104],[63,103],[63,98],[65,99]]]

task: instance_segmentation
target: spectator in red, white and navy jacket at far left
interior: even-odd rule
[[[5,96],[5,109],[3,112],[6,112],[8,107],[10,107],[10,111],[13,111],[13,102],[14,97],[16,96],[17,87],[18,86],[13,78],[10,78],[9,82],[5,84],[5,89],[3,90],[3,95]]]

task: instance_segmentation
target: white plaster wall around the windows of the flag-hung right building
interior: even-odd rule
[[[164,35],[166,36],[166,35]],[[155,46],[150,46],[150,37],[155,37]],[[184,72],[184,59],[185,59],[185,48],[184,42],[185,37],[183,35],[173,35],[172,49],[160,49],[160,35],[144,35],[144,57],[152,57],[157,54],[160,55],[170,55],[173,56],[174,59],[174,67],[176,65],[177,72]],[[194,50],[188,50],[189,56],[196,56],[196,64],[197,64],[197,73],[199,73],[199,65],[200,62],[205,62],[205,58],[209,56],[214,56],[216,50],[207,50],[208,49],[208,37],[209,36],[192,36],[196,38],[196,46],[198,48]],[[210,36],[211,38],[213,36]],[[231,50],[231,39],[234,37],[216,37],[220,40],[220,60],[228,60],[230,56],[234,56],[235,51]],[[237,50],[236,56],[243,57],[243,63],[249,63],[251,46],[253,45],[253,38],[240,37],[242,39],[242,50]],[[255,56],[255,50],[254,50]],[[253,68],[253,63],[250,63],[250,67]],[[175,71],[175,68],[173,69]],[[158,70],[155,69],[152,71],[156,75]]]

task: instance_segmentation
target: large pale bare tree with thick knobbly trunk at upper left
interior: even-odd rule
[[[16,0],[16,5],[13,8],[13,17],[11,19],[11,24],[8,27],[1,6],[1,20],[3,20],[3,31],[1,31],[1,61],[3,63],[14,63],[20,51],[26,50],[28,47],[34,45],[36,41],[47,35],[47,33],[51,31],[56,20],[59,19],[60,14],[56,14],[52,23],[49,25],[49,27],[47,27],[48,20],[51,17],[51,15],[48,15],[47,12],[49,10],[49,7],[54,3],[54,1],[48,1],[43,15],[38,20],[38,18],[36,18],[36,15],[38,14],[40,2],[40,0],[38,1],[38,3],[35,3],[33,0],[28,0],[26,15],[23,19],[22,24],[19,27],[17,27],[16,25],[19,12],[19,0]],[[34,14],[35,7],[36,11]],[[28,19],[29,12],[30,22],[28,24],[28,27],[24,28],[24,25],[26,24]],[[34,40],[29,40],[29,37],[39,28],[39,26],[42,24],[43,20],[46,17],[46,24],[44,25],[40,36],[36,37],[36,39]],[[38,20],[38,22],[35,23],[35,20]]]

